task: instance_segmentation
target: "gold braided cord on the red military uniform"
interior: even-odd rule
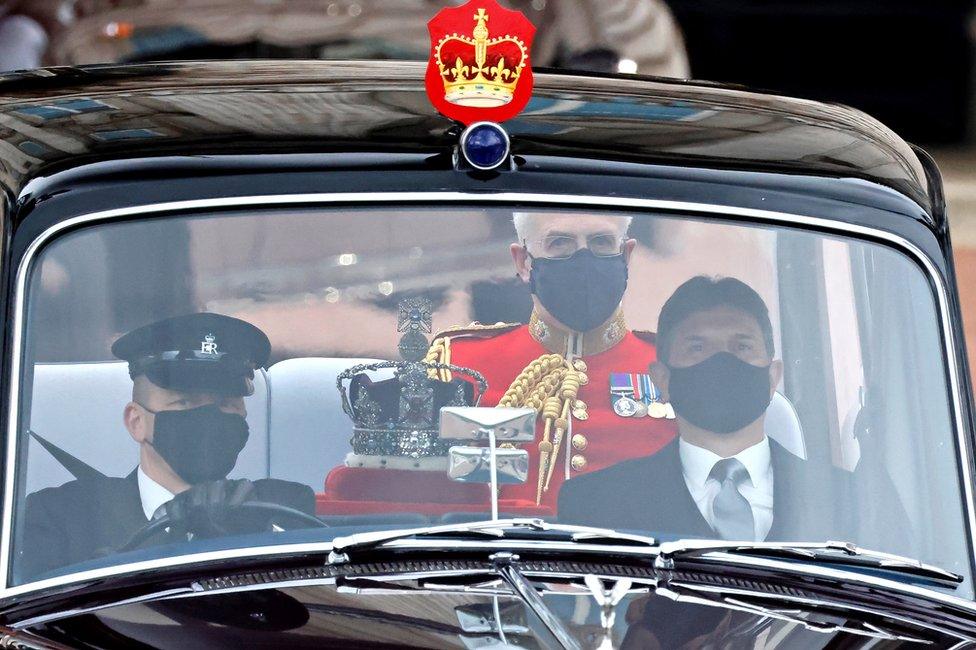
[[[451,363],[451,339],[434,339],[424,357],[426,363]],[[451,381],[450,370],[428,370],[431,379]],[[549,489],[556,458],[569,429],[569,414],[576,401],[582,374],[559,354],[544,354],[518,374],[505,391],[498,406],[532,408],[542,414],[542,440],[539,441],[539,484],[535,502]]]

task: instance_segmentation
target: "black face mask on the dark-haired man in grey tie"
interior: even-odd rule
[[[769,366],[757,367],[719,352],[687,368],[668,368],[668,394],[675,413],[706,431],[738,431],[769,406]]]

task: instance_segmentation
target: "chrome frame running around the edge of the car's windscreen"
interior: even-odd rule
[[[0,530],[0,601],[25,593],[63,587],[93,578],[122,575],[131,571],[145,570],[146,568],[185,565],[195,562],[213,561],[215,559],[239,558],[254,555],[255,551],[259,551],[259,554],[263,555],[266,553],[289,552],[292,549],[294,552],[309,551],[312,548],[315,550],[328,550],[330,546],[329,543],[311,545],[308,543],[298,543],[270,548],[239,547],[227,551],[170,556],[133,565],[113,565],[103,569],[66,573],[44,580],[11,585],[13,568],[12,552],[14,550],[12,528],[14,523],[14,495],[16,494],[15,487],[17,480],[14,470],[16,469],[16,460],[19,453],[18,443],[21,437],[18,429],[20,424],[21,379],[26,352],[23,345],[26,298],[32,263],[45,245],[53,241],[62,232],[79,226],[90,226],[97,223],[122,219],[187,215],[199,213],[202,210],[217,212],[220,210],[240,210],[248,207],[278,208],[300,206],[314,208],[336,207],[339,205],[354,205],[357,208],[390,205],[427,205],[441,207],[457,204],[466,204],[485,209],[499,208],[506,205],[512,207],[532,205],[533,207],[552,207],[557,209],[587,207],[601,211],[626,210],[630,213],[654,212],[662,216],[675,215],[685,218],[702,218],[704,220],[733,224],[752,223],[756,225],[785,226],[816,231],[821,234],[833,234],[848,238],[853,237],[859,240],[871,240],[899,251],[915,262],[934,289],[934,298],[939,312],[939,332],[943,344],[942,362],[948,375],[947,385],[950,392],[948,403],[952,416],[951,420],[955,429],[953,438],[956,444],[956,462],[959,470],[958,476],[963,483],[965,525],[968,529],[969,568],[970,575],[976,576],[976,504],[974,504],[973,497],[973,451],[969,444],[971,432],[967,426],[967,402],[962,392],[963,386],[966,386],[967,383],[961,375],[964,365],[958,357],[961,345],[956,340],[956,332],[953,328],[954,312],[952,305],[954,303],[950,299],[950,292],[946,280],[938,270],[938,264],[909,239],[887,230],[862,224],[853,224],[804,214],[761,210],[718,203],[582,194],[545,194],[531,191],[499,192],[494,194],[464,191],[348,192],[217,197],[133,205],[124,208],[80,214],[64,219],[43,230],[30,242],[24,250],[23,255],[17,261],[16,274],[13,277],[14,288],[10,297],[12,308],[8,309],[8,313],[12,314],[12,334],[10,339],[12,345],[9,359],[10,375],[8,377],[9,381],[6,384],[8,408],[6,413],[7,443],[4,465],[3,521],[0,522],[2,524],[2,530]]]

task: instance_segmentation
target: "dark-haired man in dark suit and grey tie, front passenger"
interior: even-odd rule
[[[865,529],[856,477],[807,462],[766,436],[782,376],[766,304],[734,278],[692,278],[661,310],[651,376],[679,437],[658,453],[569,481],[566,523],[736,541],[853,540],[891,548]],[[890,486],[890,481],[885,482]],[[892,520],[907,519],[891,487]],[[864,517],[861,517],[864,519]]]

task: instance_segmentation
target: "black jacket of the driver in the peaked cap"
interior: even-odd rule
[[[315,514],[315,493],[301,483],[254,481],[255,500]],[[17,574],[29,580],[111,553],[148,523],[136,470],[124,478],[85,478],[27,497]]]

